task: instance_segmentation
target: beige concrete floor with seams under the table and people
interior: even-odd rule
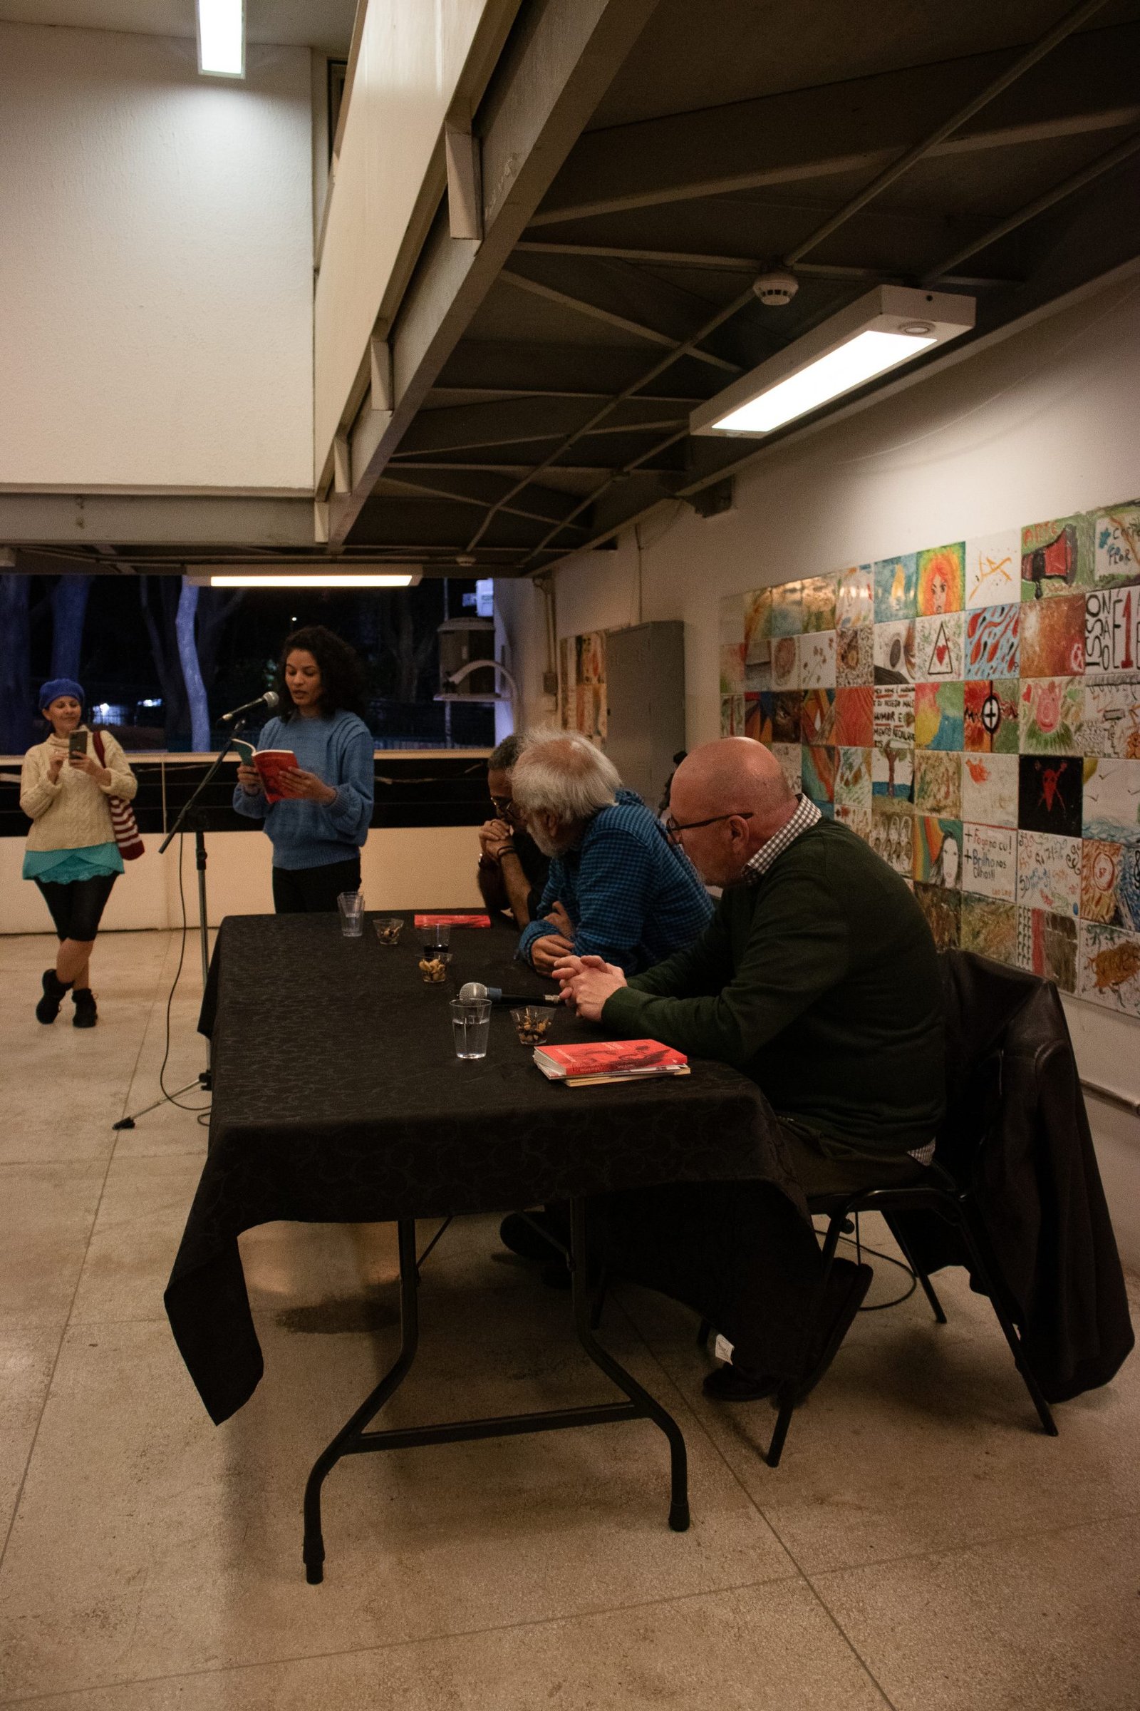
[[[603,1335],[685,1430],[687,1535],[648,1424],[419,1449],[332,1473],[306,1586],[306,1471],[393,1348],[391,1232],[244,1239],[267,1372],[210,1425],[162,1314],[205,1133],[111,1131],[156,1097],[178,941],[99,941],[91,1033],[32,1018],[48,946],[0,941],[0,1704],[1140,1706],[1140,1364],[1043,1437],[961,1273],[945,1328],[921,1297],[860,1316],[776,1471],[767,1403],[708,1405],[692,1316],[622,1288]],[[195,956],[171,1088],[202,1064]],[[393,1422],[610,1394],[494,1220],[434,1251],[422,1326]]]

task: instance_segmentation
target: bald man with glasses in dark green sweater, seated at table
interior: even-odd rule
[[[555,974],[567,1003],[614,1035],[749,1075],[805,1194],[921,1181],[943,1112],[943,1021],[933,939],[909,888],[796,797],[749,737],[694,749],[670,804],[670,837],[725,888],[713,922],[632,980],[598,956],[566,958]],[[867,1292],[870,1271],[851,1270],[814,1379]],[[706,1389],[745,1400],[774,1382],[733,1364]]]

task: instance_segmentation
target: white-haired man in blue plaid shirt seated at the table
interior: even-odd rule
[[[704,931],[713,903],[689,857],[586,737],[528,736],[511,789],[550,857],[537,919],[520,934],[523,962],[547,974],[567,955],[602,956],[639,974]]]

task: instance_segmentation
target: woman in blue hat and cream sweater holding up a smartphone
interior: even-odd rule
[[[44,683],[39,707],[51,736],[27,751],[21,773],[21,808],[32,823],[24,878],[36,881],[51,910],[60,951],[55,968],[44,968],[36,1020],[55,1021],[70,989],[73,1025],[94,1028],[91,948],[111,886],[123,871],[108,797],[130,802],[138,780],[109,731],[99,732],[103,763],[91,753],[91,732],[82,722],[84,691],[73,678]]]

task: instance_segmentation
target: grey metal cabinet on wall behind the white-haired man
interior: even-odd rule
[[[685,626],[608,630],[605,753],[631,790],[656,809],[673,755],[685,746]]]

